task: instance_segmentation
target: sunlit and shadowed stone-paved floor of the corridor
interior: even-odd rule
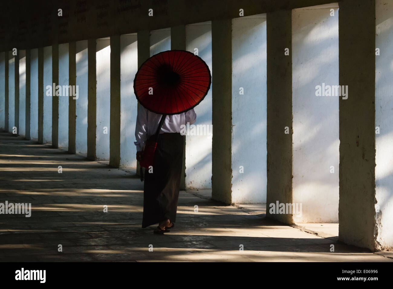
[[[307,224],[282,225],[265,219],[258,205],[226,206],[206,191],[180,192],[176,227],[152,234],[153,226],[141,229],[143,183],[134,170],[8,133],[0,134],[0,183],[0,203],[32,206],[30,218],[0,214],[3,262],[393,261],[391,252],[343,245]]]

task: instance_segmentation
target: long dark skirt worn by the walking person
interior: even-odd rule
[[[165,219],[176,221],[182,174],[184,135],[164,133],[158,137],[153,172],[145,170],[142,228]]]

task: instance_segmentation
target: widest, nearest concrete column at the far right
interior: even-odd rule
[[[340,241],[375,249],[375,1],[339,2]],[[349,93],[350,91],[350,93]]]

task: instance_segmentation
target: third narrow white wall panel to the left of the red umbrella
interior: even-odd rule
[[[75,150],[87,154],[87,40],[76,42],[76,86],[79,91],[75,101]]]

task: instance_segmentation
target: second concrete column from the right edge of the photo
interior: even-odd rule
[[[292,11],[267,13],[267,188],[266,217],[291,224],[292,214],[270,213],[269,205],[292,203]],[[289,55],[284,55],[289,48]],[[214,68],[214,64],[213,64]],[[213,90],[214,91],[214,90]],[[289,134],[285,134],[285,130]]]

